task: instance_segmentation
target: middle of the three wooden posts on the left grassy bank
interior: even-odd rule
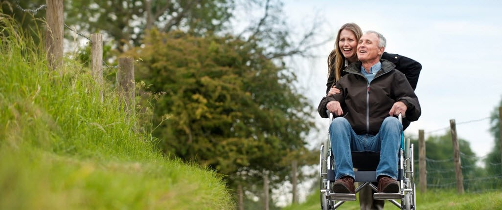
[[[99,87],[99,98],[103,102],[103,35],[91,34],[91,75]]]

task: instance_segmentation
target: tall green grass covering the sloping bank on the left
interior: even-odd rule
[[[3,14],[0,38],[0,209],[233,209],[220,175],[163,156],[88,68],[48,70]]]

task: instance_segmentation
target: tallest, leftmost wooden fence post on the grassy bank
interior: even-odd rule
[[[63,65],[63,0],[46,0],[47,67],[56,70]],[[62,72],[59,72],[62,75]]]

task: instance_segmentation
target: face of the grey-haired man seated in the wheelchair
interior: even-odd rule
[[[371,62],[380,60],[380,56],[384,53],[385,48],[379,48],[379,38],[376,34],[364,34],[359,39],[357,44],[357,58],[361,62]]]

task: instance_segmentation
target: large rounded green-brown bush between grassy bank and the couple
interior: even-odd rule
[[[263,49],[231,36],[154,30],[138,52],[138,78],[166,92],[156,115],[169,120],[155,133],[166,153],[249,181],[278,175],[291,152],[307,152],[312,107],[292,85],[295,75]]]

